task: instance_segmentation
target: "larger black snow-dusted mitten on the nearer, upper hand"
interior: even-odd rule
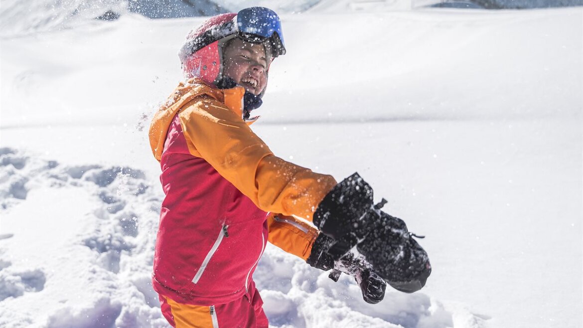
[[[352,247],[364,255],[375,273],[402,292],[421,289],[431,274],[425,250],[402,219],[373,204],[373,189],[358,173],[337,184],[318,205],[314,224],[334,242],[327,251],[334,260]]]

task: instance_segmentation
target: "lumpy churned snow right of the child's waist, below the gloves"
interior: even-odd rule
[[[448,308],[423,292],[388,287],[384,301],[363,301],[352,277],[338,282],[274,246],[266,248],[254,275],[270,323],[278,327],[486,327],[486,317],[463,306]],[[459,322],[468,324],[458,324]]]

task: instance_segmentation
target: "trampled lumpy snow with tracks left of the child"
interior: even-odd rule
[[[0,159],[0,326],[166,327],[150,286],[161,198],[144,174]]]

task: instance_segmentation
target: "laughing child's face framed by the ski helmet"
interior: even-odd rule
[[[262,44],[233,39],[224,49],[224,58],[224,75],[254,95],[259,95],[265,89],[269,58]]]

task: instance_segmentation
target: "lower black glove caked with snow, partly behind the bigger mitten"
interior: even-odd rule
[[[324,271],[333,269],[329,277],[334,281],[338,281],[340,273],[354,277],[365,302],[376,304],[382,301],[385,297],[387,283],[371,270],[371,265],[366,263],[363,256],[349,253],[340,260],[334,260],[326,252],[333,242],[332,238],[320,233],[312,245],[312,252],[307,263]]]

